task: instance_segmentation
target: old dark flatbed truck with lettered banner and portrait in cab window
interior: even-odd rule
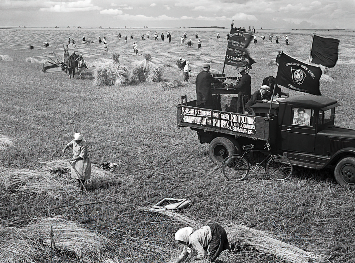
[[[355,185],[355,130],[334,125],[334,99],[300,95],[256,103],[253,115],[230,111],[214,94],[214,109],[196,107],[196,100],[177,105],[178,128],[197,132],[200,143],[209,144],[209,157],[222,162],[242,154],[241,146],[262,150],[269,143],[273,154],[289,158],[293,166],[334,168],[335,180]]]

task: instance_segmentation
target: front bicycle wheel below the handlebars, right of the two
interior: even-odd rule
[[[293,166],[289,158],[281,155],[271,156],[266,163],[266,173],[275,180],[286,180],[293,172]]]

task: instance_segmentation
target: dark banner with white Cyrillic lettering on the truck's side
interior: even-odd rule
[[[203,127],[256,135],[255,116],[200,108],[196,109],[187,106],[181,107],[181,113],[181,123],[197,124]]]

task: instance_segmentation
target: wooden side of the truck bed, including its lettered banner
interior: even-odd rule
[[[198,108],[195,101],[177,105],[178,127],[189,127],[269,141],[273,118]],[[276,116],[275,116],[276,117]]]

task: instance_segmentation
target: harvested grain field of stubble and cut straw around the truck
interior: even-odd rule
[[[258,171],[231,182],[219,164],[209,161],[208,145],[200,144],[195,131],[176,128],[175,105],[181,95],[196,99],[194,83],[203,63],[222,72],[229,30],[219,29],[220,40],[214,29],[198,30],[202,49],[197,43],[180,45],[184,31],[194,38],[194,28],[169,28],[172,43],[163,44],[152,38],[141,41],[146,31],[0,29],[0,127],[6,134],[0,137],[0,263],[50,262],[50,226],[52,262],[175,262],[182,250],[175,232],[208,222],[223,225],[236,245],[233,253],[221,254],[220,263],[353,263],[355,193],[338,185],[332,170],[294,167],[287,181],[270,180]],[[160,35],[167,30],[153,31]],[[258,38],[248,47],[257,62],[250,72],[252,91],[265,77],[276,76],[277,66],[270,62],[278,51],[308,61],[313,33],[258,31],[287,34],[290,46]],[[132,40],[125,44],[117,37],[130,32],[133,41],[139,37],[138,55]],[[355,33],[316,33],[340,39],[339,60],[323,75],[320,90],[341,105],[335,124],[354,129]],[[65,71],[42,72],[38,62],[47,56],[62,58],[68,37],[79,40],[83,35],[87,44],[69,46],[87,63],[81,80],[77,75],[70,80]],[[98,43],[99,35],[107,38],[108,52]],[[47,49],[44,41],[50,43]],[[116,62],[113,53],[120,55],[114,55]],[[182,82],[176,65],[179,57],[191,63],[188,83]],[[132,76],[139,79],[144,73],[135,67],[144,62],[138,69],[146,69],[151,61],[160,72],[152,76],[159,78],[143,74],[144,82],[131,83]],[[95,72],[102,73],[100,83]],[[235,76],[235,69],[226,66],[226,74]],[[61,152],[75,132],[86,138],[93,164],[87,193],[70,177],[72,152]],[[117,166],[108,172],[100,168],[102,163]],[[192,202],[173,216],[149,210],[163,198]]]

